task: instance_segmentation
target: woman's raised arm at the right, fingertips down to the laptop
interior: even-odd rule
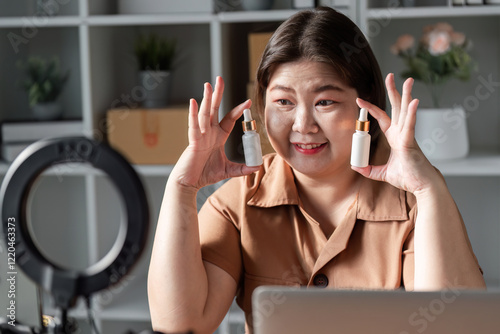
[[[418,100],[413,100],[413,79],[401,96],[394,76],[386,79],[392,120],[375,105],[358,99],[377,119],[391,147],[383,166],[353,167],[362,175],[411,192],[417,200],[415,222],[415,290],[447,287],[484,288],[462,217],[441,174],[430,164],[415,140]]]

